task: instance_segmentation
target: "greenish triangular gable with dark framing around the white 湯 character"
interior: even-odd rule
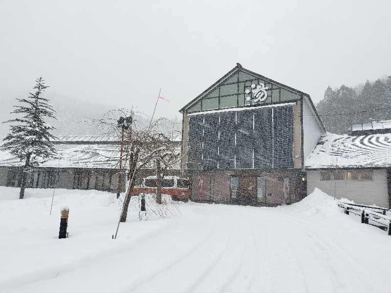
[[[182,112],[185,109],[191,108],[193,112],[198,112],[201,110],[250,105],[252,103],[251,101],[254,101],[254,99],[247,101],[246,98],[249,98],[249,96],[252,95],[252,84],[253,86],[264,84],[265,88],[268,89],[268,98],[262,101],[260,105],[300,100],[303,95],[309,97],[309,95],[304,92],[247,70],[237,63],[237,66],[222,76],[216,83],[208,87],[179,111]],[[250,93],[246,94],[246,90]],[[272,97],[274,97],[274,99]],[[202,99],[204,99],[204,104],[201,109]]]

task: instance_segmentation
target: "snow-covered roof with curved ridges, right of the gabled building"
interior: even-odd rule
[[[339,135],[327,132],[305,160],[305,167],[391,167],[391,133]]]

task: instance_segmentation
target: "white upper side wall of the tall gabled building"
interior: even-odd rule
[[[325,133],[313,110],[308,98],[303,98],[303,152],[304,163],[311,151],[318,143],[321,135]]]

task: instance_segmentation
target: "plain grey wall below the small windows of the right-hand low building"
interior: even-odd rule
[[[347,198],[356,204],[389,208],[386,169],[373,170],[373,180],[321,180],[321,171],[307,171],[307,193],[319,188],[337,199]]]

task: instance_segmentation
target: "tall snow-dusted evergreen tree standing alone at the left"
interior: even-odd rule
[[[5,143],[1,149],[24,162],[19,195],[21,199],[24,197],[27,173],[56,154],[56,149],[50,141],[50,138],[56,137],[49,132],[55,128],[44,121],[45,117],[56,119],[53,106],[48,104],[48,99],[42,97],[47,87],[42,77],[37,79],[34,86],[36,91],[30,93],[27,99],[17,99],[22,105],[16,105],[16,109],[11,112],[22,114],[22,118],[3,122],[14,123],[14,125],[10,125],[10,133],[4,138]]]

